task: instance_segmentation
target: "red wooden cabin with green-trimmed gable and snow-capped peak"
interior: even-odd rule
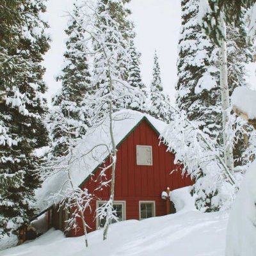
[[[166,146],[159,141],[159,135],[166,124],[136,111],[125,113],[136,117],[126,120],[126,122],[130,121],[130,126],[116,125],[122,129],[118,130],[114,125],[118,137],[114,203],[116,214],[119,220],[143,220],[153,216],[163,216],[166,214],[166,200],[161,198],[162,192],[168,187],[173,190],[190,186],[194,182],[190,177],[181,174],[179,166],[174,164],[175,155],[168,152]],[[116,121],[116,123],[123,121]],[[98,137],[97,134],[93,136]],[[86,145],[86,140],[84,145]],[[85,214],[86,222],[91,228],[88,232],[104,224],[95,218],[95,210],[109,200],[110,195],[109,187],[104,187],[101,191],[95,190],[99,187],[97,177],[102,170],[103,162],[109,163],[109,157],[105,157],[104,154],[102,154],[101,164],[90,170],[90,175],[83,182],[80,180],[80,187],[87,188],[95,196],[91,205],[92,212],[88,211]],[[172,172],[176,169],[176,172]],[[109,172],[107,171],[106,174],[109,180]],[[64,230],[64,221],[68,216],[65,211],[57,210],[57,207],[49,209],[49,221],[52,227]],[[80,221],[78,223],[82,227],[82,223]],[[72,230],[67,234],[67,236],[81,235],[83,235],[83,228],[77,232]]]

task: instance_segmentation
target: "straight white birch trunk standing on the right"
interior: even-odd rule
[[[223,13],[220,15],[221,29],[226,38],[226,24]],[[225,131],[228,120],[230,120],[230,100],[228,91],[228,68],[227,68],[227,42],[221,40],[220,47],[220,88],[221,88],[221,106],[222,106],[222,126],[223,126],[223,149],[225,164],[230,172],[234,171],[233,148],[228,144],[228,134]]]

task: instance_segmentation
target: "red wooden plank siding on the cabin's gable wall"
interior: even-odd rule
[[[136,165],[136,145],[152,146],[152,166]],[[182,177],[180,172],[171,174],[172,170],[177,168],[173,163],[174,157],[174,154],[166,152],[166,147],[163,144],[159,145],[158,134],[145,120],[118,147],[115,200],[125,200],[126,220],[139,219],[140,200],[154,200],[156,216],[165,215],[166,202],[161,199],[162,191],[165,191],[167,187],[173,190],[193,184],[189,177]],[[106,164],[108,163],[109,159]],[[99,181],[95,181],[99,172],[100,170],[97,170],[95,175],[85,182],[83,188],[88,188],[89,192],[100,200],[108,200],[110,188],[95,191],[95,188],[99,186]],[[110,179],[109,172],[107,177]],[[96,228],[95,209],[96,201],[92,204],[92,213],[86,212],[86,221],[92,230]],[[82,234],[83,230],[81,229],[76,234],[70,232],[69,236],[81,236]]]

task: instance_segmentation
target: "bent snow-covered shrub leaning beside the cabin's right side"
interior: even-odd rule
[[[198,125],[190,122],[184,111],[173,113],[173,120],[162,134],[168,150],[175,153],[175,163],[182,173],[195,179],[192,193],[201,211],[218,211],[230,206],[236,179],[216,150],[214,141]]]

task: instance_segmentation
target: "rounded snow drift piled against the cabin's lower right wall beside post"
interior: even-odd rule
[[[177,212],[196,211],[195,196],[190,195],[191,186],[171,191],[170,198]]]

